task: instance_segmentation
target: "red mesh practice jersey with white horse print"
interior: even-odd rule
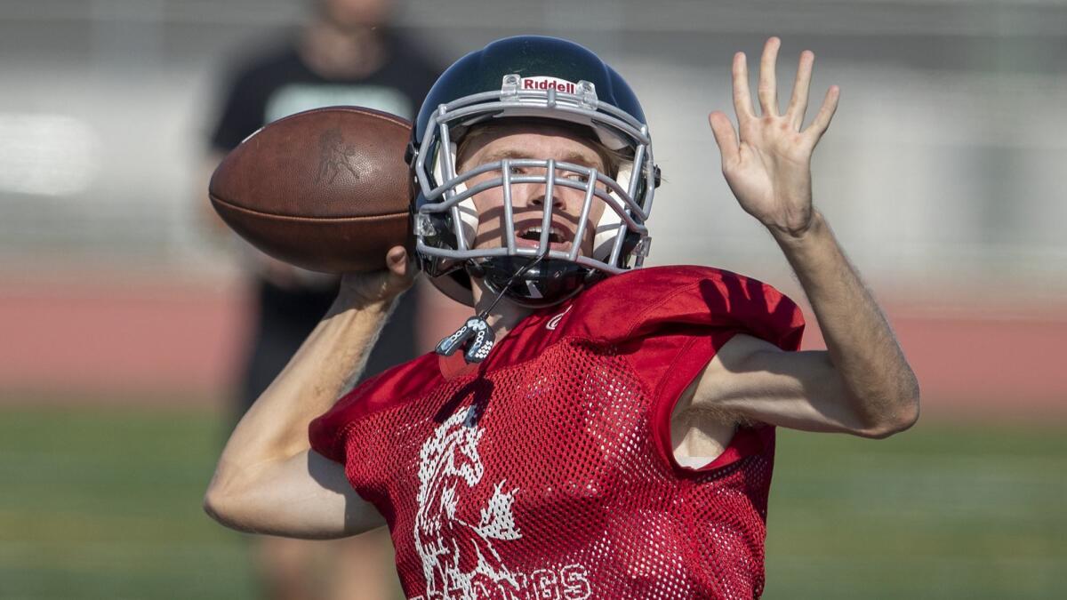
[[[409,598],[754,598],[774,428],[689,470],[670,413],[735,333],[795,350],[802,330],[754,280],[639,269],[525,318],[478,365],[427,354],[368,380],[310,442],[385,517]]]

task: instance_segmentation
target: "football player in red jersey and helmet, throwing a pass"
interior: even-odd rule
[[[775,427],[882,438],[914,375],[813,207],[813,54],[779,113],[763,51],[722,171],[793,266],[828,350],[769,285],[641,266],[660,183],[644,114],[589,50],[506,38],[455,63],[409,151],[414,260],[473,307],[435,353],[360,373],[415,272],[346,275],[334,306],[227,444],[205,505],[232,527],[338,537],[387,524],[410,598],[749,598],[764,587]],[[309,431],[308,429],[309,428]],[[308,437],[309,433],[309,437]]]

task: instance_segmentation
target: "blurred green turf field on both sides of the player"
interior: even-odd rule
[[[769,599],[1067,597],[1067,424],[782,432]],[[0,598],[255,598],[207,411],[0,409]]]

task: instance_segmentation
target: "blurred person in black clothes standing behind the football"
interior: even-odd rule
[[[294,112],[357,105],[412,119],[440,70],[386,27],[389,4],[313,0],[313,18],[299,32],[232,65],[222,83],[225,97],[206,173],[252,132]],[[202,189],[206,187],[205,180]],[[213,227],[222,233],[225,225],[211,212]],[[296,268],[251,248],[248,255],[254,328],[232,415],[235,424],[319,322],[338,289],[336,277]],[[415,357],[415,291],[398,303],[383,332],[389,343],[375,348],[364,377]],[[392,594],[392,552],[384,530],[347,540],[257,537],[254,543],[268,598],[379,600]]]

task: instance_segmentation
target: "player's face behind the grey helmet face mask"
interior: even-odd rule
[[[472,139],[457,158],[457,171],[463,173],[479,164],[496,162],[501,159],[527,158],[535,160],[555,159],[557,162],[571,162],[583,167],[607,172],[604,155],[595,143],[566,127],[543,124],[494,125]],[[513,175],[544,176],[544,169],[512,168]],[[467,180],[467,188],[481,181],[500,176],[498,171],[482,173]],[[579,173],[557,170],[557,179],[570,178],[580,183],[585,177]],[[605,189],[603,185],[600,185]],[[606,189],[605,189],[606,191]],[[511,204],[514,210],[515,246],[519,248],[537,248],[540,238],[541,218],[544,215],[544,184],[512,184]],[[553,226],[550,237],[551,249],[568,252],[578,231],[578,219],[586,193],[583,190],[561,185],[553,187]],[[507,246],[504,236],[504,188],[490,188],[474,196],[478,210],[478,231],[475,235],[474,248],[500,248]],[[596,223],[606,207],[604,201],[593,196],[589,209],[588,224],[583,235],[579,254],[591,256]],[[536,227],[536,228],[535,228]]]

